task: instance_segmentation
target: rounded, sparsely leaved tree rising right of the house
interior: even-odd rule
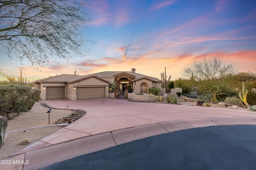
[[[192,73],[204,90],[211,93],[213,102],[216,103],[217,94],[227,87],[226,78],[234,75],[236,68],[234,63],[225,63],[217,58],[204,58],[183,69],[184,76],[190,77]]]

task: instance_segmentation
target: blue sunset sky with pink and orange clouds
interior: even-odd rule
[[[240,71],[256,72],[256,0],[87,0],[92,20],[84,36],[96,41],[71,60],[51,57],[34,70],[0,53],[8,76],[38,80],[56,74],[85,75],[130,71],[161,79],[166,66],[171,80],[182,68],[204,57],[234,62]],[[0,80],[3,80],[0,77]]]

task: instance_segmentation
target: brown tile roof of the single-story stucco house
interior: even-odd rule
[[[38,82],[76,82],[78,80],[82,80],[89,76],[98,76],[100,78],[113,78],[114,77],[113,75],[120,74],[120,73],[128,73],[128,74],[134,75],[135,79],[147,78],[147,79],[153,80],[155,82],[161,82],[161,80],[159,80],[158,78],[146,76],[143,74],[138,74],[138,73],[135,73],[132,71],[104,71],[104,72],[97,72],[97,73],[93,73],[93,74],[83,75],[83,76],[78,76],[78,75],[74,75],[74,74],[60,74],[58,76],[50,76],[48,78],[36,80],[36,81],[34,81],[34,83],[38,83]]]

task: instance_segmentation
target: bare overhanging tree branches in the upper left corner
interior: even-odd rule
[[[1,0],[0,50],[34,68],[50,57],[56,62],[82,54],[84,42],[92,42],[80,29],[90,20],[85,6],[76,0]]]

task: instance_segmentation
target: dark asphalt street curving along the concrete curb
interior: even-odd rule
[[[167,133],[40,168],[56,169],[255,170],[256,125],[212,126]]]

